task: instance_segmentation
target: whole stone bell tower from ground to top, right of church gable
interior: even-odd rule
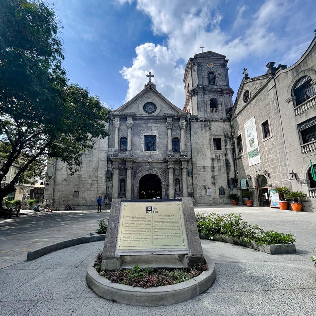
[[[229,112],[228,60],[212,51],[189,58],[183,82],[190,115],[194,197],[201,204],[228,203],[236,187]]]

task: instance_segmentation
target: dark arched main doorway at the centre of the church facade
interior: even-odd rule
[[[156,174],[146,174],[139,180],[139,199],[162,198],[161,180]]]

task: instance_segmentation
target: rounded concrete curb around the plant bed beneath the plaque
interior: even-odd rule
[[[205,292],[215,280],[215,262],[204,255],[209,270],[186,282],[158,287],[133,287],[111,283],[100,276],[92,261],[87,268],[86,281],[89,287],[99,296],[119,303],[140,306],[163,306],[176,304],[194,298]]]

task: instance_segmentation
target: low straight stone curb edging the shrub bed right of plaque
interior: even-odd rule
[[[207,239],[207,240],[227,242],[227,243],[231,243],[234,245],[239,245],[239,246],[243,246],[246,248],[262,251],[262,252],[268,253],[270,255],[296,253],[296,247],[294,244],[291,244],[291,243],[266,245],[266,244],[258,244],[254,241],[246,242],[246,241],[242,241],[239,238],[228,237],[225,235],[214,235],[212,237],[208,237],[204,233],[200,233],[200,238]]]

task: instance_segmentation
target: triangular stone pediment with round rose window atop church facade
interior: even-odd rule
[[[151,108],[145,112],[144,105],[150,103]],[[154,103],[154,105],[152,105]],[[156,109],[155,109],[156,107]],[[152,112],[154,111],[154,112]],[[169,115],[181,115],[186,112],[179,109],[168,99],[166,99],[161,93],[159,93],[154,85],[146,85],[145,88],[135,95],[131,100],[123,104],[117,110],[112,113],[128,114],[134,113],[135,115],[144,116],[165,116]],[[152,113],[151,113],[152,112]]]

